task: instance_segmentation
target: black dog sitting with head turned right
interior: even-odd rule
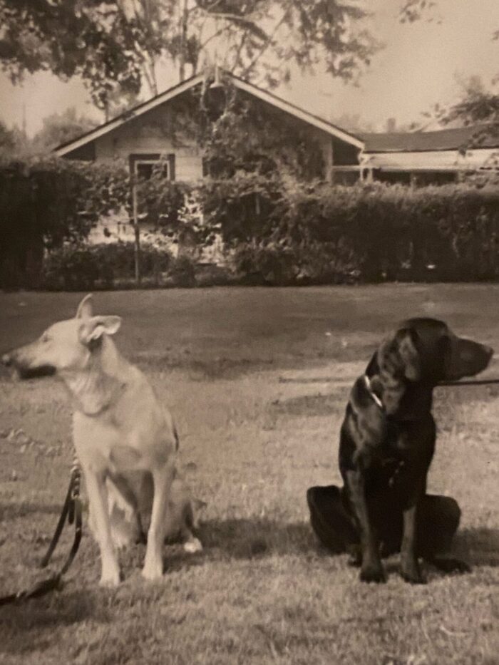
[[[468,569],[436,555],[451,545],[461,512],[426,494],[436,426],[433,388],[485,369],[493,350],[435,319],[409,319],[381,344],[352,388],[341,426],[344,488],[310,488],[312,527],[334,552],[351,550],[366,582],[384,582],[381,556],[400,550],[401,574],[425,580],[418,556],[441,569]]]

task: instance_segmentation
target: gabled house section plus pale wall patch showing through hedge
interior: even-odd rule
[[[335,165],[359,163],[358,156],[364,143],[355,135],[242,78],[226,72],[222,76],[225,86],[230,86],[243,100],[256,102],[268,117],[277,118],[290,142],[300,137],[306,143],[308,153],[317,155],[320,171],[316,175],[319,177],[332,182]],[[153,165],[162,160],[170,180],[200,180],[205,167],[192,123],[196,122],[194,111],[199,108],[200,93],[206,86],[204,74],[192,76],[133,110],[58,146],[55,153],[69,159],[96,162],[124,158],[130,172],[143,177],[148,177]],[[98,227],[91,239],[110,241],[115,237],[133,237],[130,220],[124,211],[123,215],[108,223],[105,234],[102,231],[103,228]]]

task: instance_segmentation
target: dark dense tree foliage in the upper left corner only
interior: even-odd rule
[[[114,0],[0,0],[0,25],[0,63],[14,83],[26,72],[81,76],[98,108],[116,85],[140,90],[133,26]]]

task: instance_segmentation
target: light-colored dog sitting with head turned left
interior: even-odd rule
[[[195,506],[176,470],[178,436],[144,374],[120,356],[111,337],[119,316],[94,316],[91,295],[76,317],[3,356],[21,378],[57,373],[73,396],[73,440],[88,492],[90,524],[101,549],[101,584],[120,580],[120,547],[143,537],[143,576],[163,574],[165,537],[202,549],[192,535]]]

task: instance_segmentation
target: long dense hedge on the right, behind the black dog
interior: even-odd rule
[[[240,175],[204,185],[240,274],[269,284],[495,280],[499,190],[331,187]]]

